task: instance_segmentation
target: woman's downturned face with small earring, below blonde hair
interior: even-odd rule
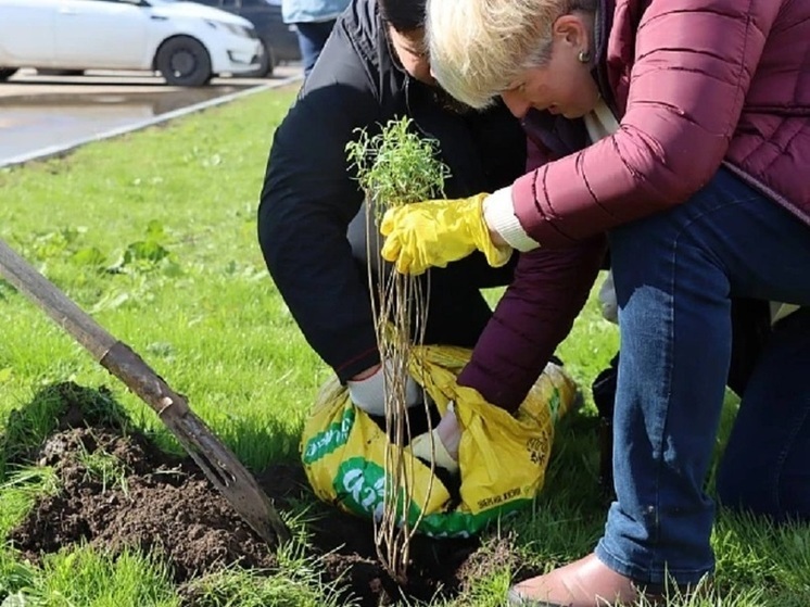
[[[593,20],[581,13],[559,17],[553,29],[552,55],[542,67],[526,69],[515,85],[501,92],[509,111],[522,118],[534,108],[567,118],[579,118],[599,101],[590,63],[580,61],[591,49]]]

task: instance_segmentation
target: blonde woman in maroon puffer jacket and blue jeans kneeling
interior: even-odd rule
[[[383,255],[419,270],[453,261],[442,242],[528,251],[607,232],[620,306],[605,535],[510,604],[627,603],[712,570],[704,481],[733,296],[800,308],[746,389],[718,494],[810,520],[810,3],[431,0],[427,28],[439,83],[474,106],[501,96],[552,160],[447,201],[464,222],[435,201],[391,212]]]

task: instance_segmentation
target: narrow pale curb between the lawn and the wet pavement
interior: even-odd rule
[[[81,137],[79,139],[74,139],[73,141],[68,141],[66,143],[60,143],[59,146],[41,148],[35,152],[20,154],[18,156],[12,156],[4,161],[0,161],[0,168],[8,168],[10,166],[20,166],[22,164],[25,164],[31,161],[42,161],[42,160],[48,160],[48,159],[52,159],[55,156],[62,156],[86,143],[92,143],[94,141],[103,141],[104,139],[112,139],[113,137],[118,137],[119,135],[125,135],[127,132],[140,130],[143,128],[148,128],[150,126],[155,126],[155,125],[172,121],[174,118],[185,116],[186,114],[191,114],[194,112],[200,112],[202,110],[207,110],[208,108],[222,105],[223,103],[229,103],[231,101],[235,101],[242,97],[246,97],[249,94],[254,94],[254,93],[262,92],[268,89],[275,89],[275,88],[283,87],[287,85],[291,85],[295,83],[296,80],[301,80],[303,76],[290,76],[289,78],[284,78],[282,80],[278,80],[275,83],[267,83],[266,85],[251,87],[251,88],[240,90],[237,92],[231,92],[229,94],[224,94],[222,97],[216,97],[214,99],[208,99],[200,103],[194,103],[193,105],[187,105],[178,110],[173,110],[172,112],[166,112],[165,114],[161,114],[160,116],[154,116],[152,118],[147,118],[144,121],[138,121],[132,124],[122,126],[122,127],[116,127],[104,132],[99,132],[96,135],[90,135],[88,137]]]

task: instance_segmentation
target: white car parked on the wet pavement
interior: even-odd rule
[[[0,0],[0,81],[20,67],[149,69],[201,86],[261,63],[253,25],[173,0]]]

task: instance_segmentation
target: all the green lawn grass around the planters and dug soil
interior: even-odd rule
[[[186,394],[253,470],[298,457],[303,418],[329,376],[275,290],[255,237],[267,150],[293,96],[260,93],[65,159],[0,170],[0,237]],[[491,301],[498,294],[492,291]],[[131,423],[178,450],[148,406],[2,281],[0,326],[0,541],[35,495],[55,488],[50,470],[20,466],[53,428],[52,383],[109,387]],[[587,388],[617,345],[615,327],[602,319],[592,298],[559,353]],[[735,405],[730,396],[723,438]],[[722,444],[721,438],[718,453]],[[90,461],[92,473],[119,482],[118,464],[97,459]],[[488,532],[508,538],[516,558],[444,604],[502,605],[518,565],[546,569],[587,554],[604,526],[597,467],[588,403],[561,425],[534,507]],[[294,529],[303,534],[306,521],[295,520]],[[672,605],[810,605],[807,527],[772,528],[723,513],[712,541],[716,587]],[[304,556],[303,543],[280,555],[292,576],[235,568],[186,589],[169,583],[160,555],[112,558],[80,547],[34,566],[7,545],[0,547],[0,600],[169,606],[191,593],[210,606],[339,605],[318,582],[318,564]]]

